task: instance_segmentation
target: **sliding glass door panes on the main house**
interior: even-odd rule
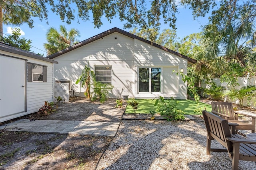
[[[161,92],[161,68],[139,68],[139,92]]]

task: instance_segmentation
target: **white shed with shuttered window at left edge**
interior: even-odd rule
[[[53,63],[58,62],[0,43],[0,122],[53,100]]]

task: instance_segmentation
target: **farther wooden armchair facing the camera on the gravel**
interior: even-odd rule
[[[255,119],[256,116],[248,115],[245,113],[234,112],[232,103],[230,102],[212,102],[212,113],[226,119],[229,123],[237,123],[237,130],[252,130],[252,133],[255,132]],[[249,117],[251,119],[250,123],[245,123],[238,121],[238,114]]]

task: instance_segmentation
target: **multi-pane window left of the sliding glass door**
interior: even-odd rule
[[[112,85],[112,66],[94,66],[97,82]]]

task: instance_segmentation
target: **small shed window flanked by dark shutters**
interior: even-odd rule
[[[28,63],[28,82],[47,82],[47,67]]]

